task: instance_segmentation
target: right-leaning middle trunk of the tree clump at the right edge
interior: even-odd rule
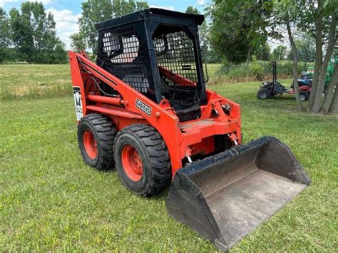
[[[327,52],[324,56],[324,61],[322,63],[322,68],[320,69],[319,80],[317,84],[317,91],[314,97],[314,103],[312,106],[312,113],[319,113],[320,107],[322,105],[322,93],[324,91],[325,78],[327,76],[327,66],[329,65],[329,61],[334,49],[335,42],[335,33],[336,33],[336,25],[337,25],[337,16],[332,15],[331,24],[329,27],[329,38],[327,43]]]

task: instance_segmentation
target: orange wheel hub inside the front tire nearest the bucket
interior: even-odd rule
[[[143,176],[143,163],[138,150],[130,144],[124,145],[121,158],[122,167],[126,175],[130,180],[139,181]]]

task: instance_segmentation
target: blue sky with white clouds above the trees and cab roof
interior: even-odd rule
[[[20,5],[27,0],[0,0],[0,7],[8,12],[15,7],[20,9]],[[30,0],[28,0],[30,1]],[[32,0],[33,1],[33,0]],[[39,0],[38,0],[39,1]],[[67,49],[71,49],[69,36],[78,31],[78,18],[81,16],[81,0],[40,0],[50,11],[56,21],[56,32],[61,41],[66,44]],[[170,9],[173,11],[185,11],[188,6],[195,6],[201,13],[205,9],[205,0],[147,0],[150,7]]]

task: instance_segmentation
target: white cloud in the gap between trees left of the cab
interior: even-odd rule
[[[46,1],[46,0],[45,0]],[[81,17],[81,14],[73,14],[72,11],[63,9],[58,11],[53,7],[46,10],[46,12],[51,12],[54,16],[54,21],[56,22],[56,33],[61,41],[66,43],[66,48],[71,48],[71,40],[69,36],[73,33],[78,32],[78,18]]]

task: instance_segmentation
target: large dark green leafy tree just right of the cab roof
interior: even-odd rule
[[[249,63],[252,51],[264,45],[267,36],[278,35],[267,29],[274,22],[271,12],[271,1],[213,1],[208,8],[212,46],[232,63]]]

